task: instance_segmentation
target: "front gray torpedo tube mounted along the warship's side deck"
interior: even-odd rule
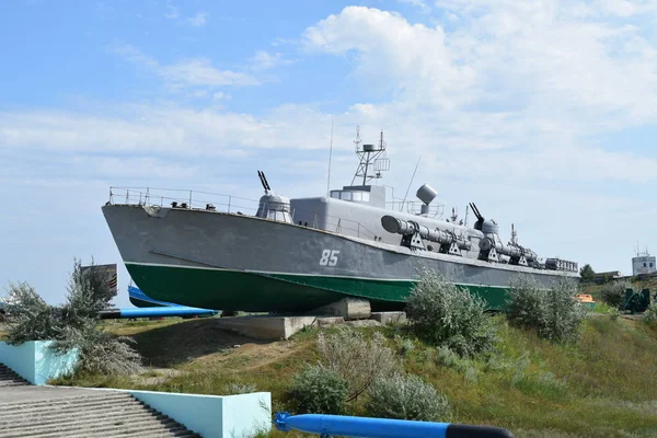
[[[390,233],[402,234],[402,245],[412,250],[426,250],[424,240],[438,243],[439,252],[443,254],[462,255],[461,251],[469,251],[472,244],[461,235],[447,230],[420,226],[413,220],[402,220],[393,216],[383,216],[381,226]]]

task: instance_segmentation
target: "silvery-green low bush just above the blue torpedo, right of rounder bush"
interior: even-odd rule
[[[417,376],[378,379],[369,390],[367,413],[373,417],[445,422],[449,403]]]

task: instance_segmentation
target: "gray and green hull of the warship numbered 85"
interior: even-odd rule
[[[135,205],[106,205],[103,214],[137,286],[153,299],[192,307],[300,312],[359,297],[373,310],[400,309],[425,266],[495,309],[516,276],[545,287],[578,278],[252,216]]]

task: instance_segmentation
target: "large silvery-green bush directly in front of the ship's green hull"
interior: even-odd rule
[[[423,270],[406,299],[410,326],[429,344],[446,346],[461,356],[488,351],[495,342],[495,326],[480,297]]]

